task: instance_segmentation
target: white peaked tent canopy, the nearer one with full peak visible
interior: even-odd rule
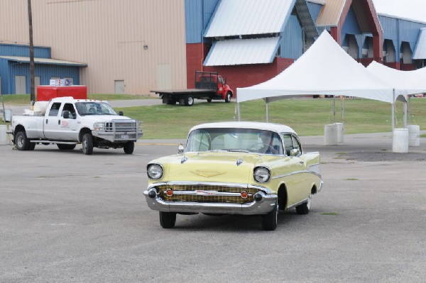
[[[237,103],[253,99],[275,101],[288,96],[328,94],[356,96],[393,104],[395,90],[349,56],[327,31],[293,65],[252,87],[237,88]]]

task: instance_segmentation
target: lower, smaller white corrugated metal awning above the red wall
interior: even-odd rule
[[[279,38],[221,40],[214,43],[204,66],[231,66],[273,62]]]

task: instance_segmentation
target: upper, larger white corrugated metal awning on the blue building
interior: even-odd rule
[[[280,33],[295,0],[222,0],[205,37]]]

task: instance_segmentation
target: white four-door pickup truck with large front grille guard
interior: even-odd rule
[[[142,136],[138,121],[117,114],[107,101],[60,97],[36,102],[33,111],[11,119],[13,143],[18,150],[55,143],[60,150],[73,150],[82,143],[85,155],[93,148],[124,148],[133,153]]]

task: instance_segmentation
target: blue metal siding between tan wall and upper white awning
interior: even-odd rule
[[[219,0],[185,0],[186,43],[202,43],[202,35]]]

